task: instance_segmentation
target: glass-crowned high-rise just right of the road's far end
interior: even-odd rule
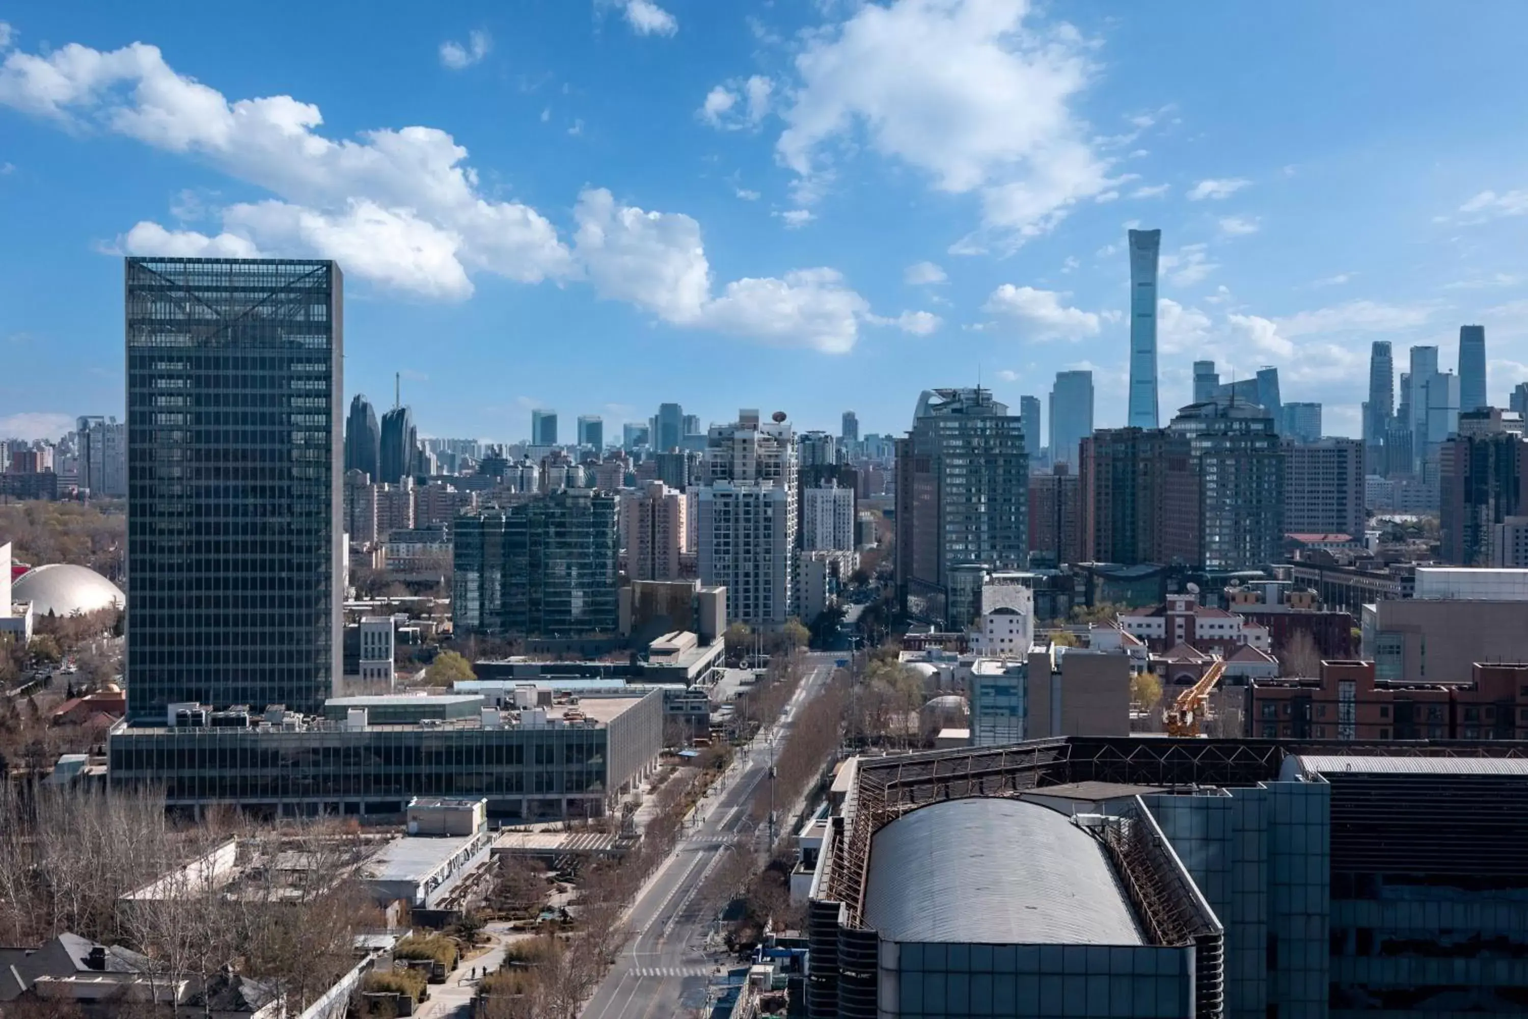
[[[1024,426],[990,390],[918,397],[897,440],[897,594],[911,614],[952,623],[957,567],[1025,567],[1028,474]]]

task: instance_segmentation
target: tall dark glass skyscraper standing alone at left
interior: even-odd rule
[[[321,712],[341,672],[342,281],[127,260],[127,704]]]

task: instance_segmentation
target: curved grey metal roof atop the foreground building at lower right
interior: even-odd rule
[[[1103,846],[1013,799],[944,801],[876,833],[865,926],[892,941],[1143,944]]]

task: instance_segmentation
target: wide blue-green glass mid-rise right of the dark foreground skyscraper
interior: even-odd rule
[[[585,637],[617,628],[616,497],[559,489],[457,518],[457,632]]]

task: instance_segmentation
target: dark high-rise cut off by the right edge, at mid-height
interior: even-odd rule
[[[1442,561],[1490,567],[1502,558],[1499,526],[1528,515],[1528,442],[1490,408],[1461,414],[1459,432],[1438,451]]]

